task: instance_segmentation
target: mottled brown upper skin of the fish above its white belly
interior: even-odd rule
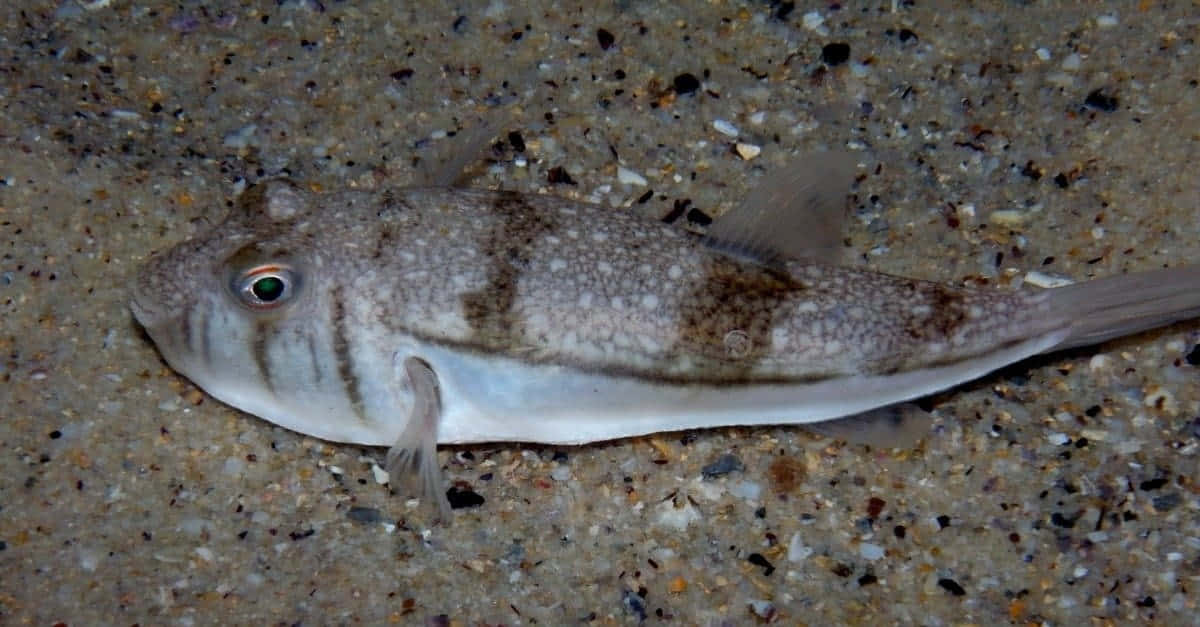
[[[757,264],[667,225],[559,198],[296,190],[304,207],[272,216],[263,207],[272,185],[287,184],[252,187],[223,225],[156,258],[139,280],[144,292],[169,292],[163,306],[187,310],[188,294],[222,288],[214,276],[288,259],[304,293],[260,322],[254,354],[266,381],[271,342],[313,344],[305,324],[332,328],[352,388],[361,339],[349,329],[367,322],[528,363],[721,386],[954,363],[1061,324],[1026,294]],[[305,300],[326,305],[313,315]]]

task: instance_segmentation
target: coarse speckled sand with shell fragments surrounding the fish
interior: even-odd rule
[[[378,483],[382,449],[220,405],[131,320],[138,265],[241,181],[404,184],[515,91],[478,186],[703,222],[845,145],[871,269],[1008,288],[1198,257],[1188,4],[808,11],[0,6],[0,622],[1195,625],[1194,322],[940,394],[914,450],[452,447],[446,527]]]

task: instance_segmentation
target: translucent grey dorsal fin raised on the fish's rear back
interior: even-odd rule
[[[764,265],[786,259],[836,263],[854,159],[812,153],[770,172],[742,204],[713,222],[706,243]]]

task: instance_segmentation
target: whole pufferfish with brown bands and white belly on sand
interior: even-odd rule
[[[1001,291],[842,263],[856,168],[802,157],[702,234],[550,195],[269,179],[151,256],[130,306],[209,395],[390,447],[392,483],[443,514],[438,444],[865,431],[1032,356],[1200,316],[1194,265]]]

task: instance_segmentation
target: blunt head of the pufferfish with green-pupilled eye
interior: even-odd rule
[[[172,369],[276,424],[330,440],[347,400],[313,196],[251,187],[210,232],[151,257],[131,310]]]

